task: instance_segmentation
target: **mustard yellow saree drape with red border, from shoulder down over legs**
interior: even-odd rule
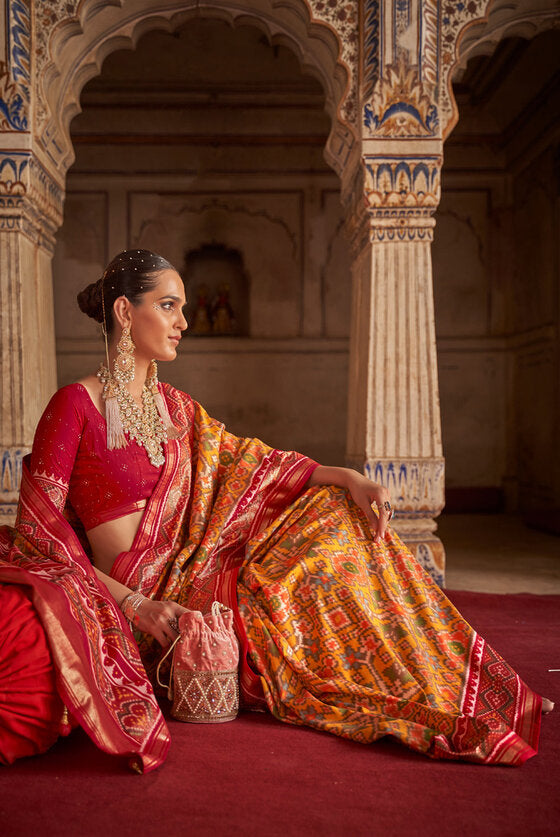
[[[345,491],[302,493],[310,460],[232,436],[186,396],[166,395],[174,424],[189,428],[180,490],[163,508],[154,496],[115,578],[185,607],[232,607],[245,703],[264,698],[281,720],[362,742],[392,735],[434,758],[535,754],[541,698],[394,533],[374,544]],[[171,552],[147,547],[152,517]],[[159,649],[139,642],[151,672]]]

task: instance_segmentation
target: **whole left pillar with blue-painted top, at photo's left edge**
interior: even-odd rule
[[[51,257],[64,172],[36,138],[40,78],[33,6],[3,4],[0,39],[0,524],[16,510],[21,463],[56,388]],[[41,29],[44,34],[45,29]],[[35,71],[35,72],[34,72]]]

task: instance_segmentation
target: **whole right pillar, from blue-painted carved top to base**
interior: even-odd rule
[[[363,188],[355,189],[358,208],[348,222],[354,308],[347,455],[389,488],[395,528],[441,584],[432,215],[443,141],[457,120],[450,82],[457,45],[489,3],[365,0],[360,17]]]

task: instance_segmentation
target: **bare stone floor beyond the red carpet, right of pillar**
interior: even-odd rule
[[[560,594],[560,537],[505,514],[444,513],[438,524],[448,589]]]

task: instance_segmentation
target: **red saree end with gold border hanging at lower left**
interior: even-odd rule
[[[57,690],[95,744],[139,772],[162,764],[169,734],[130,629],[26,461],[16,529],[0,529],[0,581],[31,588]]]

